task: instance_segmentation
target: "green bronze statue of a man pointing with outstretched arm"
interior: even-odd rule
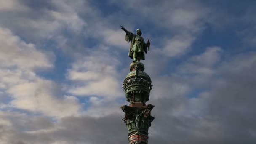
[[[125,40],[127,42],[131,41],[130,50],[128,56],[133,59],[133,62],[139,62],[140,60],[145,60],[145,53],[147,53],[147,48],[150,46],[149,39],[147,43],[144,42],[144,38],[141,37],[141,30],[137,29],[137,35],[133,34],[121,26],[123,31],[126,32]]]

